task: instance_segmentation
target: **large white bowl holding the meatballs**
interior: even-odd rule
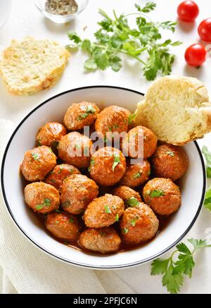
[[[134,250],[98,256],[63,245],[45,232],[37,216],[25,204],[19,166],[25,152],[34,147],[35,134],[42,125],[49,121],[62,122],[64,113],[72,102],[94,101],[101,109],[111,104],[118,104],[134,112],[137,102],[142,97],[143,94],[139,92],[120,87],[96,86],[70,90],[44,101],[15,129],[7,144],[1,167],[4,201],[18,228],[44,252],[78,266],[93,269],[124,268],[159,257],[176,245],[193,226],[203,206],[206,183],[203,157],[196,142],[185,146],[190,165],[180,183],[181,208],[174,214],[165,230],[162,230],[154,240]]]

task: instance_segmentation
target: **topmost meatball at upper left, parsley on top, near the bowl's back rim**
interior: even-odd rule
[[[87,101],[72,104],[65,113],[63,122],[68,130],[82,130],[84,126],[90,126],[96,121],[99,111],[96,104]]]

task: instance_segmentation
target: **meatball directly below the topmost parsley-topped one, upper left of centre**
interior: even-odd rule
[[[58,144],[58,157],[66,164],[87,168],[90,163],[91,140],[78,132],[62,137]]]

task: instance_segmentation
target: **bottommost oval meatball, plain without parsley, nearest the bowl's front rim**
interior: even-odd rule
[[[117,252],[120,243],[120,236],[112,227],[87,228],[79,236],[79,244],[83,248],[94,252],[101,252],[101,254]]]

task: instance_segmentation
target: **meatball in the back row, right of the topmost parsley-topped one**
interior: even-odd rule
[[[129,110],[120,106],[109,106],[98,114],[95,130],[98,133],[106,135],[107,132],[127,132]]]

